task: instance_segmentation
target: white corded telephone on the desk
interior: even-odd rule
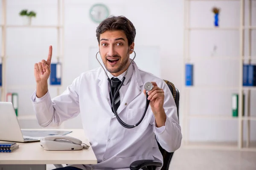
[[[41,147],[44,150],[81,150],[90,146],[82,143],[79,139],[70,136],[45,136],[40,139]]]

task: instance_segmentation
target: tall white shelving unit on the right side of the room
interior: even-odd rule
[[[240,2],[240,26],[238,27],[191,27],[190,26],[190,3],[192,3],[192,1],[201,1],[201,2],[206,2],[206,1],[239,1]],[[243,64],[244,64],[244,59],[249,59],[249,62],[251,61],[251,59],[256,59],[256,57],[251,56],[251,30],[256,29],[256,26],[251,26],[251,14],[252,14],[252,9],[251,9],[251,0],[249,0],[250,4],[250,11],[249,11],[249,26],[245,26],[244,24],[244,0],[184,0],[184,44],[183,44],[183,48],[184,48],[184,55],[183,55],[183,90],[182,90],[182,107],[183,107],[183,115],[182,115],[182,120],[183,120],[183,146],[187,147],[187,148],[211,148],[211,149],[224,149],[224,150],[250,150],[250,151],[256,151],[256,147],[249,147],[250,146],[250,121],[255,121],[256,120],[256,116],[250,116],[249,113],[249,106],[250,103],[248,102],[247,107],[247,113],[245,113],[245,116],[242,116],[242,105],[243,105],[243,98],[240,96],[243,96],[244,91],[248,91],[250,94],[250,91],[255,91],[256,87],[252,86],[252,87],[247,87],[247,86],[243,86]],[[249,32],[249,55],[248,57],[244,57],[244,31],[248,29]],[[191,58],[190,56],[190,39],[191,39],[191,33],[190,31],[209,31],[209,34],[211,33],[210,31],[212,30],[218,30],[218,31],[238,31],[239,33],[239,56],[234,56],[234,57],[193,57]],[[193,86],[186,86],[186,78],[185,78],[185,65],[187,63],[191,63],[191,60],[193,59],[193,61],[195,62],[195,65],[197,62],[201,61],[201,60],[206,60],[206,59],[227,59],[227,60],[237,60],[239,62],[239,85],[237,85],[236,87],[230,87],[230,86],[214,86],[214,85],[203,85],[203,86],[197,86],[197,85],[193,85]],[[194,74],[194,73],[193,73]],[[193,76],[195,77],[195,75]],[[206,114],[206,113],[194,113],[191,114],[190,113],[190,91],[192,89],[200,89],[202,91],[204,90],[212,90],[212,91],[227,91],[227,90],[233,90],[233,91],[238,91],[239,93],[239,111],[238,111],[238,117],[233,117],[232,115],[227,116],[227,114],[221,114],[218,113],[216,115],[210,115],[210,114]],[[203,93],[203,92],[202,92]],[[231,98],[231,96],[230,96]],[[209,99],[210,101],[211,99]],[[247,96],[247,101],[250,101],[250,95]],[[231,109],[231,108],[230,108]],[[191,119],[204,119],[204,120],[234,120],[238,122],[238,140],[237,143],[221,143],[221,142],[216,142],[216,143],[211,143],[211,142],[203,142],[203,143],[195,143],[195,142],[190,142],[189,141],[189,131],[191,130],[190,124],[189,122],[191,121]],[[243,146],[243,122],[247,121],[247,143],[246,143],[246,147]],[[204,127],[202,127],[204,128]]]

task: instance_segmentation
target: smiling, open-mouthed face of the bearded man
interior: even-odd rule
[[[125,33],[120,30],[105,31],[99,40],[99,51],[105,68],[114,76],[122,74],[130,64],[130,49],[134,49],[134,43],[129,47]]]

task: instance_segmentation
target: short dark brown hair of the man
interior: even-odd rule
[[[104,33],[105,31],[116,31],[116,30],[124,31],[128,39],[129,46],[132,44],[132,42],[134,42],[136,29],[133,23],[131,23],[131,21],[124,16],[117,16],[117,17],[110,16],[105,20],[103,20],[96,29],[96,37],[98,42],[99,42],[100,34]]]

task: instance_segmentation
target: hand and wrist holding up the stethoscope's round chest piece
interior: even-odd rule
[[[162,88],[157,86],[156,82],[151,82],[153,84],[153,88],[151,91],[148,91],[148,100],[150,100],[150,107],[152,112],[154,113],[157,127],[161,127],[165,125],[166,122],[166,113],[163,109],[164,102],[164,91]],[[143,91],[146,95],[146,91]]]

